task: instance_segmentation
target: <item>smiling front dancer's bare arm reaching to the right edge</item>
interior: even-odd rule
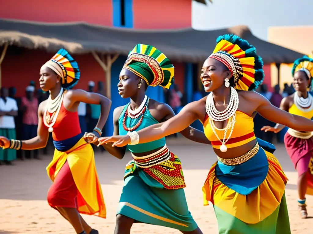
[[[265,119],[282,124],[297,131],[313,131],[313,121],[299,115],[292,115],[285,110],[273,106],[269,100],[254,92],[254,102],[257,103],[256,111]]]

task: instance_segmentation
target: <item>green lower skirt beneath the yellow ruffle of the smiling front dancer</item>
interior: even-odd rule
[[[276,210],[263,221],[247,224],[214,206],[219,234],[291,234],[285,194]]]

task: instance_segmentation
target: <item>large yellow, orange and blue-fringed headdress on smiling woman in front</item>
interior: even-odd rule
[[[231,72],[234,88],[255,90],[264,79],[263,61],[248,41],[232,34],[216,39],[217,45],[209,57],[222,62]]]

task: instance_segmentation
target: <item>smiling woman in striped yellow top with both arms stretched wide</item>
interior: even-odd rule
[[[263,78],[263,62],[253,46],[234,35],[220,36],[201,72],[204,89],[211,92],[207,97],[187,104],[163,123],[98,140],[118,147],[143,144],[179,132],[199,119],[218,156],[203,194],[205,205],[213,203],[219,233],[290,234],[287,178],[273,155],[274,145],[256,139],[253,116],[258,112],[299,131],[312,131],[313,121],[280,110],[250,91]]]

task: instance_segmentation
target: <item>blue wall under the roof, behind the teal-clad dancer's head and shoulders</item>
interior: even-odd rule
[[[113,134],[113,111],[116,107],[126,105],[129,103],[129,98],[121,98],[117,91],[117,84],[119,82],[119,75],[123,68],[123,65],[126,61],[126,56],[119,56],[118,59],[112,64],[111,67],[111,100],[112,105],[110,109],[110,114],[108,120],[105,123],[105,135],[111,136]],[[157,87],[148,87],[147,96],[151,99],[157,100],[159,102],[164,102],[163,88],[160,86]]]

